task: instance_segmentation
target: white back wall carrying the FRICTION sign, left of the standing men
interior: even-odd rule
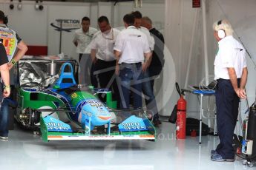
[[[10,1],[0,2],[1,10],[9,18],[8,26],[22,37],[28,45],[44,45],[48,47],[48,55],[59,54],[60,33],[50,26],[51,23],[59,27],[56,19],[79,20],[89,16],[91,8],[89,3],[63,3],[43,2],[44,10],[35,10],[35,1],[22,1],[22,10],[10,10]],[[65,24],[63,24],[65,27]],[[72,26],[70,26],[72,27]],[[76,24],[73,27],[80,27]],[[62,52],[71,58],[77,58],[75,47],[72,43],[74,30],[62,31]]]

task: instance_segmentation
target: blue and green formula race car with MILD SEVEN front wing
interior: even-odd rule
[[[147,111],[113,109],[111,91],[76,84],[70,63],[62,65],[56,79],[47,88],[18,91],[16,120],[39,127],[42,140],[155,140]],[[106,95],[105,102],[99,94]]]

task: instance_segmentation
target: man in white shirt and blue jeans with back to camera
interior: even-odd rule
[[[125,30],[116,38],[116,75],[119,75],[121,108],[129,109],[130,89],[133,89],[134,109],[142,107],[142,72],[148,67],[151,50],[144,33],[134,27],[134,15],[123,17]],[[131,88],[132,87],[132,88]]]

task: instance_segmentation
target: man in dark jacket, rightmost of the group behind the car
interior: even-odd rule
[[[145,27],[149,30],[151,35],[154,37],[154,51],[151,58],[151,64],[148,67],[148,74],[150,78],[151,83],[151,90],[154,92],[154,79],[157,78],[158,75],[160,75],[163,64],[164,64],[164,55],[163,50],[165,46],[165,40],[163,38],[162,33],[160,33],[158,30],[156,30],[154,27],[152,27],[152,21],[148,16],[142,17],[142,27]],[[154,125],[158,126],[161,124],[161,121],[159,120],[158,112],[154,115]]]

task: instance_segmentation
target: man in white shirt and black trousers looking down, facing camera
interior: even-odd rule
[[[91,60],[95,66],[94,75],[99,78],[100,88],[112,90],[113,98],[119,105],[119,90],[116,84],[114,56],[114,43],[119,34],[119,30],[112,28],[106,16],[98,18],[99,32],[93,36],[91,41]]]

